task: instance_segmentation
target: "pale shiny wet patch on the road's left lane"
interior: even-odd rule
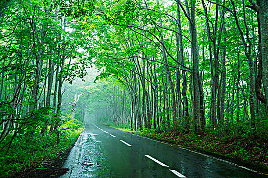
[[[115,177],[109,166],[106,165],[106,159],[102,153],[99,141],[89,131],[82,132],[75,146],[70,151],[63,168],[68,168],[69,171],[60,178]]]

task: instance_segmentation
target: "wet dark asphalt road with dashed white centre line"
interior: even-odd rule
[[[87,123],[71,150],[66,177],[267,177],[179,147]]]

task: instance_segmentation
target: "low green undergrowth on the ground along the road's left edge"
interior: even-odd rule
[[[45,164],[58,159],[76,142],[84,125],[76,130],[60,131],[60,144],[56,144],[56,134],[18,136],[12,143],[8,155],[0,153],[0,177],[12,177],[27,169],[43,169]]]

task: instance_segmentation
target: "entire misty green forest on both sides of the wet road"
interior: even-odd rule
[[[1,0],[0,57],[3,176],[88,117],[268,168],[266,0]]]

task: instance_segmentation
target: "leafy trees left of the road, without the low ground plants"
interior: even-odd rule
[[[58,133],[62,84],[84,77],[90,64],[78,51],[89,45],[89,36],[81,34],[81,24],[59,15],[58,5],[1,2],[0,143],[6,153],[17,136],[47,134],[48,126]]]

